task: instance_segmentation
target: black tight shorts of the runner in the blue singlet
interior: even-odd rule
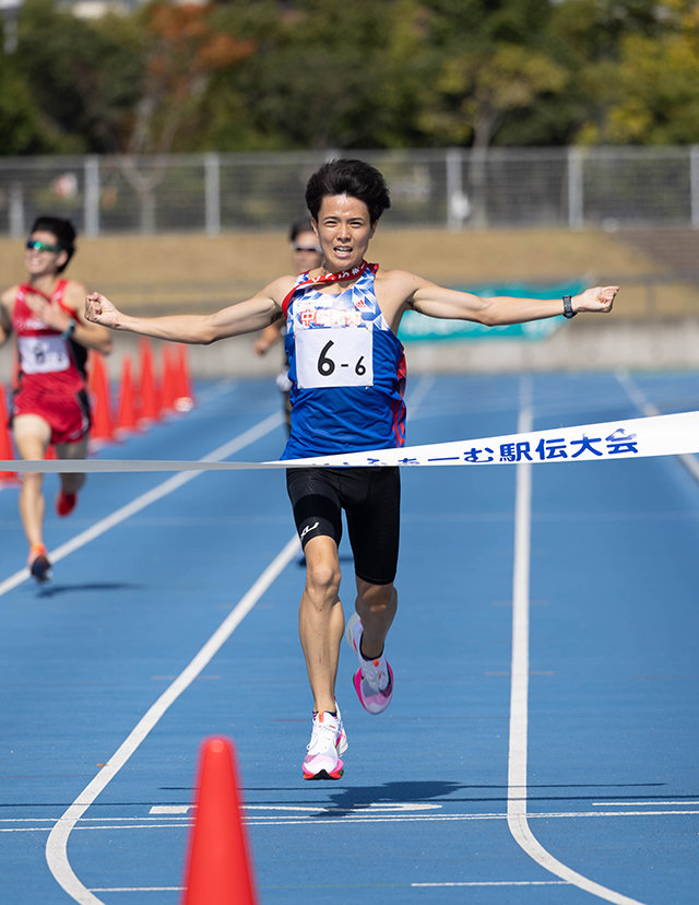
[[[342,510],[358,578],[390,585],[398,567],[401,478],[379,468],[289,468],[286,489],[301,545],[331,537],[340,546]]]

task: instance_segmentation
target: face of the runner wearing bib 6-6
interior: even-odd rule
[[[325,195],[315,225],[331,273],[360,265],[376,230],[367,205],[350,195]]]

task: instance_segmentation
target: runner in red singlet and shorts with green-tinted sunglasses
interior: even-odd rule
[[[108,330],[87,322],[85,287],[61,277],[75,251],[68,220],[40,216],[24,252],[28,280],[0,296],[0,344],[15,334],[19,383],[12,399],[12,432],[23,459],[43,459],[50,444],[59,459],[83,459],[87,450],[90,404],[85,388],[88,349],[107,353]],[[50,577],[43,537],[42,474],[25,474],[20,516],[29,543],[27,565],[37,581]],[[61,474],[56,499],[59,516],[75,506],[84,474]]]

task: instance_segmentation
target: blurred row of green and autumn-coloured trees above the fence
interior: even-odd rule
[[[698,7],[154,0],[84,21],[59,0],[26,0],[17,52],[0,64],[2,150],[137,161],[170,151],[692,142]],[[129,178],[144,178],[135,163]]]

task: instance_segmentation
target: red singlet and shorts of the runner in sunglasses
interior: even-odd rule
[[[64,339],[60,330],[48,327],[36,315],[26,297],[42,295],[59,305],[73,320],[75,312],[63,303],[67,280],[60,280],[50,296],[32,285],[19,287],[12,312],[16,337],[19,386],[12,400],[12,416],[38,414],[51,425],[52,443],[79,440],[90,427],[90,407],[85,390],[86,350]]]

